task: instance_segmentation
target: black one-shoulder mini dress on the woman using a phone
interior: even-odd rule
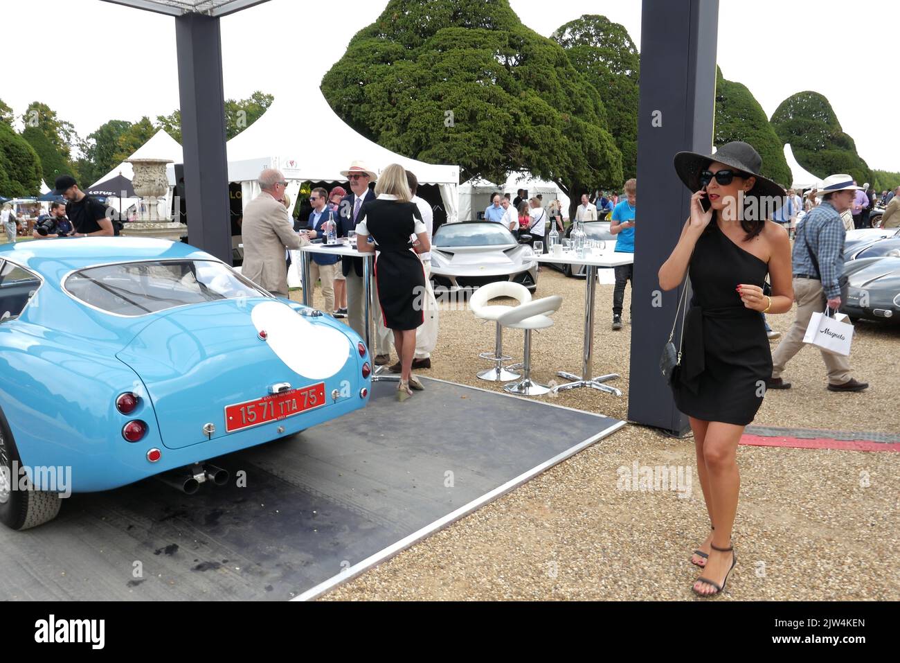
[[[714,218],[690,260],[693,295],[681,365],[672,375],[678,409],[707,422],[745,426],[762,404],[772,354],[765,320],[743,305],[739,284],[763,286],[769,265],[728,238]]]

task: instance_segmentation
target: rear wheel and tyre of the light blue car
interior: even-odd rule
[[[27,530],[53,520],[62,505],[58,493],[35,490],[27,478],[20,479],[21,467],[13,433],[0,411],[0,522],[14,530]],[[25,490],[20,487],[22,483]]]

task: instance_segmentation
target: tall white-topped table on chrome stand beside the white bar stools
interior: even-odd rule
[[[538,262],[552,262],[556,265],[584,265],[586,268],[585,294],[584,294],[584,351],[581,357],[581,376],[560,371],[556,375],[571,380],[564,385],[555,386],[554,392],[579,389],[582,386],[598,391],[621,396],[621,390],[615,386],[605,385],[608,380],[619,377],[618,373],[592,377],[594,361],[594,299],[597,293],[597,268],[621,267],[635,262],[634,253],[622,253],[613,250],[603,250],[599,253],[585,251],[584,257],[579,258],[575,251],[563,251],[554,256],[551,253],[537,254]]]

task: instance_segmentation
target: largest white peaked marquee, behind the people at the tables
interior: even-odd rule
[[[331,110],[319,90],[299,104],[276,99],[257,122],[228,141],[229,180],[241,183],[244,204],[259,193],[257,177],[264,168],[281,170],[291,182],[287,193],[296,200],[302,182],[346,181],[340,171],[356,159],[375,172],[399,163],[421,184],[439,186],[447,221],[456,220],[458,166],[401,157],[368,140]]]

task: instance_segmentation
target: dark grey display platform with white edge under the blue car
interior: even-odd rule
[[[0,598],[315,598],[625,425],[423,382],[405,403],[375,383],[365,410],[213,460],[227,486],[148,479],[0,529]]]

